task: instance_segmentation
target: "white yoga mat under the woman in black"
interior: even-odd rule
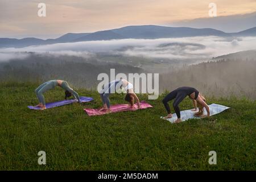
[[[214,114],[221,113],[222,111],[229,109],[230,107],[222,106],[219,104],[211,104],[211,105],[209,105],[209,108],[210,108],[210,115],[214,115]],[[198,109],[197,109],[197,111],[198,111]],[[180,111],[181,121],[186,121],[186,120],[192,119],[192,118],[200,119],[200,117],[195,117],[195,115],[194,115],[197,111],[191,111],[191,109]],[[204,108],[204,114],[207,115],[207,111],[205,108]],[[163,117],[160,117],[160,118],[163,119]],[[176,119],[177,119],[177,115],[176,115],[176,113],[174,113],[174,114],[172,114],[172,118],[168,118],[166,120],[170,121],[171,123],[174,123],[176,121]]]

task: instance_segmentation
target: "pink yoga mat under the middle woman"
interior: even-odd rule
[[[152,107],[150,104],[147,104],[146,101],[141,101],[141,109],[146,109]],[[110,106],[112,113],[122,112],[122,111],[135,111],[138,110],[137,104],[134,104],[133,107],[129,104],[117,104]],[[104,115],[106,111],[99,111],[99,109],[84,109],[88,115]]]

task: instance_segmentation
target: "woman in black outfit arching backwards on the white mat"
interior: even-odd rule
[[[205,109],[207,110],[207,116],[208,117],[210,116],[209,106],[205,103],[205,98],[201,96],[198,90],[189,86],[183,86],[183,87],[177,88],[176,90],[169,93],[166,97],[164,97],[163,104],[164,104],[164,107],[166,107],[166,111],[167,111],[167,116],[164,117],[164,119],[172,118],[172,114],[171,114],[171,110],[170,110],[170,106],[168,105],[168,102],[175,98],[174,104],[173,104],[175,113],[177,115],[177,120],[175,122],[176,123],[181,122],[179,104],[187,96],[189,96],[189,98],[193,100],[195,109],[196,109],[196,104],[201,105],[205,107]]]

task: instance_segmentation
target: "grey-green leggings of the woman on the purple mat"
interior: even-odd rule
[[[57,85],[57,82],[55,80],[47,81],[43,83],[42,85],[38,86],[38,88],[35,89],[36,97],[38,97],[38,100],[43,105],[46,105],[46,101],[44,100],[43,93],[47,90],[55,88]]]

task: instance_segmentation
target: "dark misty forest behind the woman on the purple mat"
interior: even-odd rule
[[[0,63],[0,81],[44,82],[62,79],[76,88],[96,89],[100,73],[142,73],[143,69],[117,63],[102,63],[93,57],[31,53],[24,60],[13,59]]]

